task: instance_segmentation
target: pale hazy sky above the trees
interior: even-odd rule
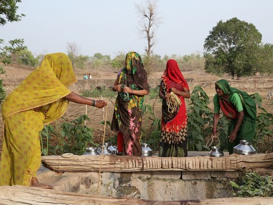
[[[96,52],[114,57],[119,51],[145,51],[138,31],[135,3],[142,0],[22,0],[19,22],[0,27],[5,40],[24,38],[34,55],[66,52],[75,42],[81,54]],[[162,24],[157,29],[154,53],[203,52],[209,31],[232,17],[253,23],[263,42],[273,43],[273,0],[159,0]]]

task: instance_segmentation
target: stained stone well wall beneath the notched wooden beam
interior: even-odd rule
[[[238,181],[238,171],[140,171],[103,172],[99,195],[130,196],[149,200],[181,200],[231,197],[230,180]],[[54,190],[97,193],[98,172],[45,171],[39,181]]]

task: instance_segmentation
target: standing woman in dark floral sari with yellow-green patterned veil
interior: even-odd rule
[[[138,53],[126,54],[125,67],[112,87],[118,91],[111,129],[118,132],[118,152],[141,156],[141,109],[149,93],[147,73]]]

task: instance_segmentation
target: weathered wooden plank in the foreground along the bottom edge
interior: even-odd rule
[[[273,197],[263,198],[216,198],[204,200],[179,200],[179,201],[152,201],[130,197],[111,197],[93,194],[79,194],[71,192],[54,191],[27,186],[0,186],[0,204],[82,204],[82,205],[272,205]]]

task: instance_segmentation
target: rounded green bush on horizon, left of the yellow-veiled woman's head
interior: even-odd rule
[[[15,60],[24,65],[36,66],[38,64],[38,58],[35,58],[31,51],[24,49],[19,50],[15,54]]]

